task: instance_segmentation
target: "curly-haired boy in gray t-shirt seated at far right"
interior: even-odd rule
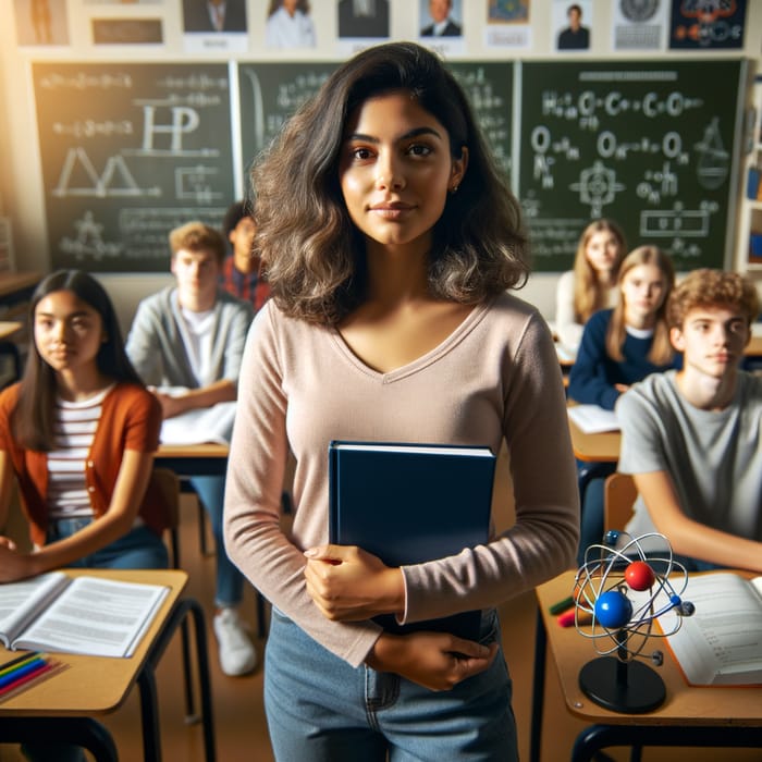
[[[738,273],[695,270],[669,298],[683,367],[616,406],[618,469],[640,496],[627,530],[660,531],[691,570],[762,573],[762,378],[739,369],[760,303]]]

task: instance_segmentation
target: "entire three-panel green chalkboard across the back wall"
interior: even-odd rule
[[[33,64],[53,267],[167,270],[168,232],[219,226],[251,160],[339,63],[236,65],[231,116],[226,63]],[[678,270],[727,261],[743,61],[447,65],[517,179],[536,270],[570,268],[598,217]]]

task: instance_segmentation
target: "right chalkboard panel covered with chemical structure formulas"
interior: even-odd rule
[[[729,261],[740,60],[521,64],[519,197],[534,269],[610,217],[679,271]],[[743,79],[745,81],[745,79]]]

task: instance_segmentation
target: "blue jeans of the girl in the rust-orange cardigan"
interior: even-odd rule
[[[48,527],[48,542],[63,540],[95,519],[63,518]],[[110,545],[70,564],[75,568],[100,569],[165,569],[169,553],[162,539],[148,527],[135,527]]]

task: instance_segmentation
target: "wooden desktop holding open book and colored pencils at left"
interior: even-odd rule
[[[131,657],[46,652],[69,665],[69,668],[0,703],[0,716],[90,716],[113,712],[127,697],[150,647],[187,581],[187,574],[179,569],[63,570],[72,577],[89,575],[130,582],[167,585],[170,592]],[[21,652],[8,651],[0,644],[0,666],[20,654]]]

